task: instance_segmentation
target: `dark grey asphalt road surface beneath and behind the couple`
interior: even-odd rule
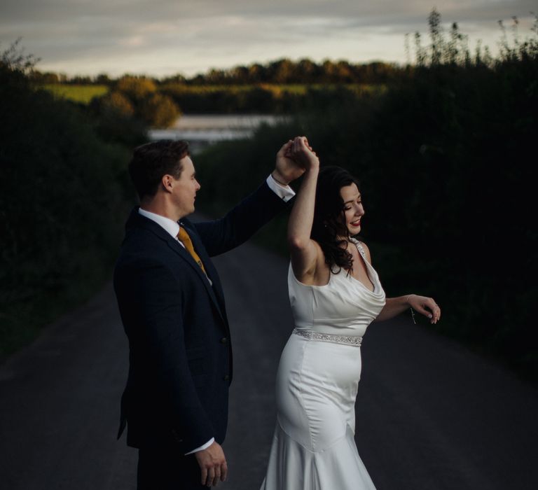
[[[219,487],[257,490],[293,328],[287,261],[246,244],[216,265],[235,360]],[[356,440],[378,490],[538,488],[536,388],[408,316],[373,323],[361,349]],[[126,374],[110,285],[1,365],[0,489],[135,489],[137,451],[116,441]]]

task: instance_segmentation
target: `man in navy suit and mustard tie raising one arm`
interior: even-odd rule
[[[210,257],[242,244],[286,207],[294,195],[288,183],[303,174],[286,156],[290,145],[254,193],[205,223],[186,218],[200,190],[188,144],[135,149],[129,172],[140,207],[125,226],[114,288],[130,348],[118,438],[127,425],[127,445],[139,449],[139,490],[202,489],[226,479],[220,444],[232,351]]]

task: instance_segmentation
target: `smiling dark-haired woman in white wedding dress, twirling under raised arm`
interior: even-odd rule
[[[357,181],[319,170],[304,137],[289,157],[305,167],[288,225],[289,300],[296,328],[277,372],[277,424],[261,490],[374,490],[354,442],[361,341],[373,320],[409,307],[439,321],[430,297],[386,298],[361,230]],[[319,179],[318,179],[319,175]]]

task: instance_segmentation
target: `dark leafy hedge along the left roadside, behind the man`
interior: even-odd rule
[[[130,202],[130,152],[89,114],[0,59],[0,356],[111,272]]]

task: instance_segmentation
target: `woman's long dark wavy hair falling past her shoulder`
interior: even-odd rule
[[[342,248],[350,239],[350,233],[345,225],[344,202],[340,196],[340,189],[353,183],[360,189],[359,181],[354,176],[336,166],[322,167],[317,178],[310,237],[322,247],[325,262],[333,274],[338,274],[341,269],[347,269],[349,274],[353,269],[351,253]],[[346,237],[347,240],[338,239],[338,236]]]

